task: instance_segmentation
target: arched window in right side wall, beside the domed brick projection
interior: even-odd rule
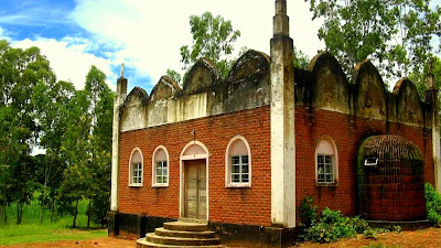
[[[315,182],[335,184],[338,181],[338,154],[334,140],[325,136],[315,147]]]

